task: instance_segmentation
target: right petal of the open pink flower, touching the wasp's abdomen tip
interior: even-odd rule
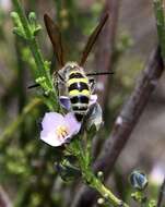
[[[70,112],[64,117],[64,121],[69,127],[70,136],[78,134],[81,129],[81,122],[78,122],[74,113]]]

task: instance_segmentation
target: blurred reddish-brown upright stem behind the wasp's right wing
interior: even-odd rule
[[[107,0],[105,3],[104,13],[109,13],[109,21],[106,23],[105,28],[102,32],[101,38],[97,44],[97,52],[95,58],[96,71],[107,71],[113,70],[113,56],[115,52],[117,25],[118,25],[118,14],[119,14],[120,0]],[[98,92],[99,104],[104,107],[105,101],[108,99],[109,90],[109,80],[111,76],[99,76],[98,82],[104,84],[104,93]],[[106,100],[105,100],[106,99]]]

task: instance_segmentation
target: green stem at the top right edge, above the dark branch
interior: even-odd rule
[[[153,0],[154,12],[157,25],[157,35],[161,46],[162,58],[165,63],[165,16],[164,16],[164,3],[163,0]]]

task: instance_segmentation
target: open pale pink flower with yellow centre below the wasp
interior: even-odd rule
[[[72,112],[64,117],[57,112],[48,112],[42,121],[40,139],[54,147],[68,143],[78,134],[81,123],[76,121]]]

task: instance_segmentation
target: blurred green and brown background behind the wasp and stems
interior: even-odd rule
[[[109,68],[115,71],[106,94],[105,77],[99,77],[96,85],[103,110],[106,111],[99,142],[102,145],[156,45],[152,2],[120,0],[117,8],[113,8],[115,1],[111,0],[110,9],[106,0],[21,2],[26,13],[36,12],[37,21],[43,25],[37,38],[44,57],[51,61],[52,71],[56,69],[56,59],[44,26],[44,13],[48,13],[59,24],[67,59],[76,61],[101,15],[107,10],[111,12],[114,17],[101,34],[85,64],[86,71],[105,71]],[[27,44],[12,33],[11,11],[12,2],[1,0],[0,206],[71,206],[82,183],[76,180],[63,182],[54,169],[57,149],[39,141],[39,121],[47,108],[38,99],[42,94],[39,88],[27,89],[34,83],[35,64]],[[102,51],[107,54],[105,59],[110,59],[109,65],[103,61]],[[114,192],[123,199],[130,191],[127,178],[132,169],[141,169],[149,174],[150,185],[154,186],[150,193],[154,196],[165,172],[164,80],[163,76],[108,180]]]

